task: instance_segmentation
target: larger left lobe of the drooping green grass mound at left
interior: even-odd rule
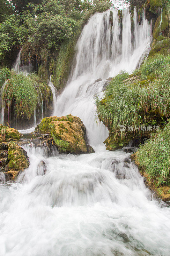
[[[3,100],[15,106],[17,116],[29,118],[37,104],[37,94],[31,78],[24,74],[13,74],[5,85]]]

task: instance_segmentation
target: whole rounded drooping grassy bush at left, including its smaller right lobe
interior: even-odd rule
[[[40,77],[34,73],[26,76],[23,73],[13,72],[8,83],[5,84],[2,97],[6,106],[11,106],[15,111],[16,116],[30,118],[38,101],[41,102],[41,94],[43,101],[48,102],[51,91],[48,84]]]

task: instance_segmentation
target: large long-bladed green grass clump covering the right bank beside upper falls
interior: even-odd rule
[[[140,72],[141,76],[152,74],[155,79],[145,80],[149,81],[146,84],[145,81],[122,81],[127,78],[127,73],[121,73],[108,85],[105,98],[96,99],[99,119],[109,131],[119,132],[121,124],[126,127],[147,125],[150,115],[153,118],[156,115],[160,118],[170,116],[170,57],[157,56],[147,60]]]

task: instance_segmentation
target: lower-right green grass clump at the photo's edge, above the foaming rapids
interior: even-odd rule
[[[170,122],[140,146],[137,158],[150,178],[156,177],[158,186],[170,185]]]

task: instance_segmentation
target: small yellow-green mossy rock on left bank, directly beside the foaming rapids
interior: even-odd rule
[[[26,151],[15,142],[8,144],[8,168],[9,170],[23,170],[28,168],[29,160]]]

